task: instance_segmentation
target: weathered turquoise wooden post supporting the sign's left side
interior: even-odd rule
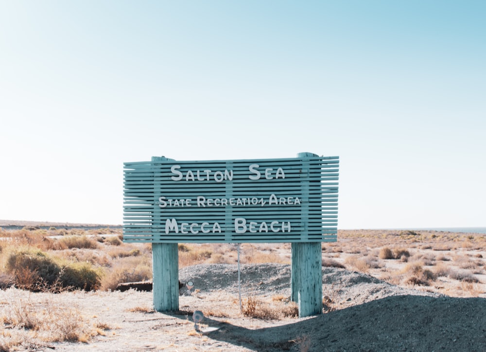
[[[152,162],[171,160],[152,157]],[[177,243],[152,243],[154,309],[179,310],[179,251]]]

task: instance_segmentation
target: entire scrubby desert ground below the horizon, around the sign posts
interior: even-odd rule
[[[290,244],[241,245],[241,306],[236,245],[179,244],[179,280],[194,287],[181,288],[179,311],[161,313],[152,292],[115,290],[151,279],[150,245],[119,235],[0,232],[0,351],[486,349],[485,234],[340,230],[322,244],[323,314],[306,318],[289,301]],[[86,291],[12,271],[11,258],[33,250],[63,268],[89,264],[97,281]]]

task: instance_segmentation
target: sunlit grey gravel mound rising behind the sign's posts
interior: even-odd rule
[[[241,265],[242,294],[291,294],[291,266],[288,264]],[[375,299],[399,295],[439,295],[392,285],[370,275],[335,267],[323,267],[323,296],[335,308],[362,304]],[[224,290],[238,293],[238,266],[236,264],[197,264],[179,270],[181,282],[194,282],[194,290],[210,293]]]

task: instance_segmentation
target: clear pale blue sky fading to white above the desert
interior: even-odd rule
[[[0,0],[0,219],[123,162],[340,157],[339,229],[486,226],[486,1]]]

